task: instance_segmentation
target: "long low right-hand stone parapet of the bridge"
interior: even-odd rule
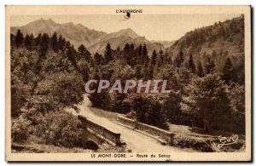
[[[130,118],[123,117],[123,116],[118,116],[118,121],[120,123],[124,123],[125,125],[131,126],[134,129],[138,129],[143,132],[146,132],[149,135],[159,137],[160,140],[164,140],[169,145],[174,144],[174,134],[170,131],[159,129],[157,127],[154,127],[145,123],[139,123],[135,120],[132,120]]]

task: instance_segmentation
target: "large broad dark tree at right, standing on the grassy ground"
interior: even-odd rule
[[[210,131],[213,125],[222,122],[220,119],[228,118],[230,115],[227,86],[217,74],[195,77],[186,87],[185,94],[182,103],[183,111],[190,112],[192,116],[199,116],[198,119],[204,123],[206,131]]]

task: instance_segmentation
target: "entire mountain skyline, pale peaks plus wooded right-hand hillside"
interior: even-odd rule
[[[230,57],[236,70],[244,72],[244,17],[226,20],[215,23],[212,26],[197,28],[195,31],[187,32],[177,41],[148,41],[146,37],[137,35],[130,28],[106,33],[89,29],[81,24],[73,23],[58,24],[54,20],[35,20],[25,26],[11,27],[11,33],[15,34],[20,28],[24,34],[47,32],[50,35],[56,31],[58,34],[66,37],[77,48],[84,44],[91,53],[103,53],[107,43],[111,44],[113,49],[118,47],[122,49],[125,43],[147,44],[149,55],[155,50],[166,50],[174,59],[180,50],[183,50],[185,59],[189,54],[194,55],[195,63],[201,61],[204,64],[207,57],[215,60],[217,69],[224,66],[225,59]]]

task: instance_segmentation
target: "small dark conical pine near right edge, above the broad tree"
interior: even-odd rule
[[[225,81],[225,83],[237,82],[236,70],[232,65],[230,57],[228,57],[225,61],[224,68],[221,73],[221,78]]]

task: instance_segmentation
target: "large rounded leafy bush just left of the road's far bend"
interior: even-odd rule
[[[83,91],[83,79],[77,72],[46,75],[38,82],[35,93],[27,97],[26,109],[51,112],[73,107],[78,110],[75,105],[83,100]]]

